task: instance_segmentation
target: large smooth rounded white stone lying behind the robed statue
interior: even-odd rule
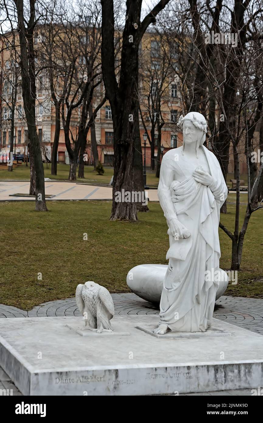
[[[167,268],[167,264],[140,264],[128,272],[126,283],[138,297],[159,304]],[[222,277],[219,281],[216,299],[219,299],[224,294],[228,285],[227,273],[222,269],[219,270],[222,272]]]

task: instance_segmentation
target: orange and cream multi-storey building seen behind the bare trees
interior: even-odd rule
[[[11,34],[10,34],[11,37]],[[156,53],[156,41],[151,41],[153,38],[152,33],[146,33],[140,45],[140,55],[143,60],[140,61],[140,99],[141,102],[141,115],[140,120],[140,135],[142,142],[142,149],[144,150],[143,134],[147,129],[148,135],[152,137],[153,134],[153,121],[151,119],[152,105],[147,103],[149,95],[152,97],[154,103],[154,96],[158,90],[158,75],[161,74],[161,67],[159,62],[161,58]],[[35,44],[36,48],[38,43],[41,44],[41,36],[36,34]],[[21,88],[21,75],[19,66],[14,64],[11,43],[8,42],[8,36],[2,39],[1,48],[1,81],[0,81],[0,151],[9,151],[10,138],[11,138],[11,108],[14,107],[14,152],[27,154],[28,135],[27,124],[25,121],[22,88]],[[154,51],[155,50],[155,51]],[[145,66],[145,63],[147,65]],[[36,58],[36,71],[38,67],[38,59]],[[118,77],[118,76],[117,76]],[[160,78],[159,78],[160,79]],[[148,80],[148,85],[144,84]],[[143,82],[144,81],[144,82]],[[180,93],[177,89],[178,82],[170,75],[165,78],[166,89],[163,91],[162,100],[162,119],[164,125],[162,127],[162,140],[161,144],[164,147],[164,152],[170,148],[175,148],[181,145],[181,134],[177,133],[176,122],[178,121],[178,113],[181,110]],[[16,99],[14,101],[14,87],[16,86]],[[55,134],[55,106],[50,94],[50,85],[48,80],[48,73],[46,71],[37,72],[36,78],[36,126],[41,143],[41,148],[46,157],[51,157],[54,134]],[[103,91],[101,88],[100,91]],[[169,102],[167,101],[169,98]],[[144,101],[145,100],[145,101]],[[99,101],[99,100],[98,100]],[[11,105],[11,107],[10,107]],[[93,103],[93,108],[96,107],[96,101]],[[150,107],[150,109],[149,109]],[[114,150],[113,150],[113,126],[110,104],[106,102],[99,110],[95,121],[96,126],[96,142],[98,148],[99,159],[104,165],[113,165]],[[158,150],[158,133],[157,125],[154,130],[154,155],[157,157]],[[77,131],[77,119],[73,119],[72,133]],[[86,153],[88,162],[93,162],[93,152],[90,141],[90,132],[87,137]],[[151,148],[146,141],[146,165],[151,164]],[[63,132],[63,125],[61,121],[60,126],[60,139],[58,145],[58,162],[68,163],[68,152],[65,146],[65,138]]]

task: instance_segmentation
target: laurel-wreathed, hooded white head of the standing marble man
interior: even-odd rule
[[[185,144],[196,143],[196,154],[198,157],[198,148],[205,142],[207,123],[201,113],[190,112],[187,115],[181,115],[178,121],[179,128],[183,131],[183,151]]]

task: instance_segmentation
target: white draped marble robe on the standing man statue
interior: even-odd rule
[[[205,186],[184,173],[182,162],[175,159],[181,148],[164,155],[158,187],[159,201],[169,225],[175,217],[191,232],[187,239],[174,239],[168,229],[170,248],[166,258],[169,266],[164,278],[160,302],[160,323],[175,332],[205,331],[212,321],[216,278],[205,277],[219,271],[220,207],[227,198],[227,186],[218,160],[202,146],[213,182]],[[180,163],[181,162],[181,163]],[[181,175],[181,182],[167,187],[165,172]],[[185,175],[186,174],[186,175]],[[184,176],[187,176],[184,179]],[[217,272],[218,273],[218,272]]]

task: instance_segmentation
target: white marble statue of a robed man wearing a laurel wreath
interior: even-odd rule
[[[200,332],[210,325],[219,282],[220,207],[227,186],[215,155],[203,146],[206,121],[197,112],[181,116],[183,146],[164,154],[158,197],[168,225],[169,266],[154,330]],[[208,275],[208,277],[205,277]]]

